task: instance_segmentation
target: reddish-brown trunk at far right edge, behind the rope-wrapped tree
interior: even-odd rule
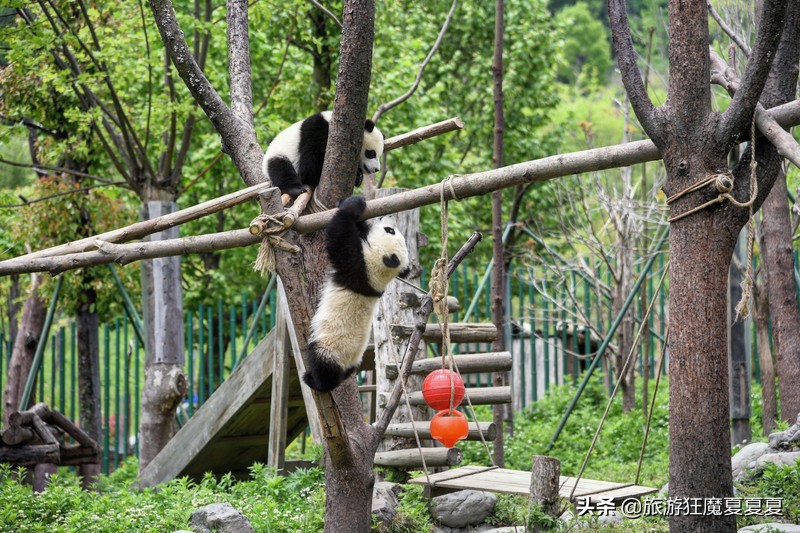
[[[788,102],[797,91],[800,59],[800,6],[789,2],[778,56],[764,88],[765,107]],[[775,336],[775,359],[781,396],[781,419],[789,424],[800,413],[800,308],[794,280],[792,226],[786,175],[780,169],[763,206],[764,264],[769,314]]]

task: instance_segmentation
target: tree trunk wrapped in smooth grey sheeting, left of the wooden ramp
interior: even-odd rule
[[[143,218],[165,215],[175,208],[172,201],[148,201]],[[171,228],[149,240],[176,237],[178,228]],[[139,427],[140,472],[174,435],[175,413],[186,394],[180,257],[142,261],[142,298],[147,355]]]

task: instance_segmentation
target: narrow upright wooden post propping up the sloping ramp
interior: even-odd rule
[[[272,403],[269,416],[269,448],[267,466],[276,472],[283,469],[286,452],[286,417],[289,414],[289,340],[286,310],[277,306],[275,346],[272,360]]]

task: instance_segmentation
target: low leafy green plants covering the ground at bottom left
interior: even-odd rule
[[[246,481],[207,475],[199,483],[181,478],[142,491],[134,487],[137,469],[135,461],[123,464],[101,478],[97,493],[82,491],[75,475],[59,472],[47,490],[35,495],[10,467],[0,466],[0,531],[174,531],[187,528],[194,509],[216,502],[242,511],[256,531],[315,532],[323,526],[319,468],[277,477],[254,465]]]

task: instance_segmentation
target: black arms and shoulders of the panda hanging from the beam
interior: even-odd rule
[[[380,296],[367,281],[367,265],[362,247],[367,240],[369,225],[358,218],[367,208],[363,196],[345,198],[328,224],[326,248],[333,266],[333,281],[338,286],[364,296]]]

